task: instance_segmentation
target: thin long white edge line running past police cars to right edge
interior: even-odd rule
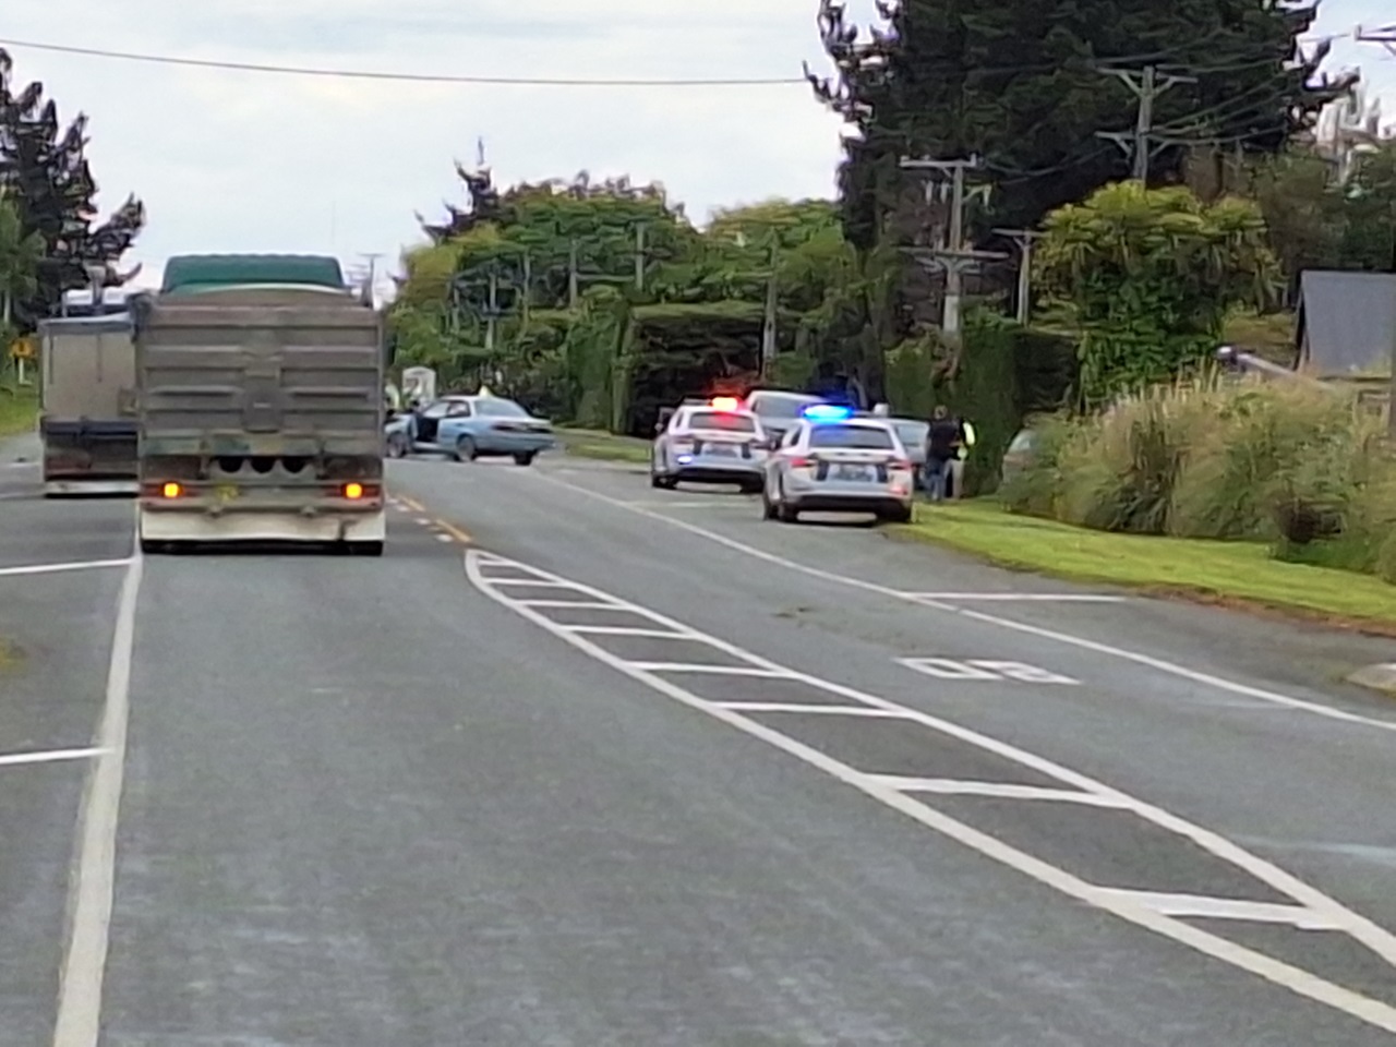
[[[889,596],[896,600],[905,600],[907,603],[916,603],[923,607],[930,607],[933,610],[945,611],[948,614],[959,614],[960,617],[970,618],[973,621],[984,623],[986,625],[997,625],[998,628],[1012,630],[1015,632],[1022,632],[1026,635],[1033,635],[1040,639],[1050,639],[1057,644],[1064,644],[1067,646],[1079,648],[1082,651],[1090,651],[1097,655],[1106,655],[1107,658],[1115,658],[1124,662],[1132,662],[1138,666],[1145,666],[1146,669],[1153,669],[1160,673],[1167,673],[1168,676],[1177,676],[1184,680],[1189,680],[1195,684],[1202,684],[1205,687],[1212,687],[1219,691],[1227,691],[1230,694],[1244,695],[1247,698],[1256,698],[1263,702],[1270,702],[1273,705],[1283,705],[1290,709],[1300,709],[1302,712],[1314,713],[1315,716],[1323,716],[1332,720],[1342,720],[1344,723],[1358,723],[1364,727],[1376,727],[1379,730],[1396,732],[1396,720],[1383,720],[1372,716],[1361,716],[1358,713],[1346,712],[1344,709],[1337,709],[1332,705],[1322,705],[1321,702],[1311,702],[1302,698],[1294,698],[1287,694],[1279,694],[1277,691],[1269,691],[1263,687],[1251,687],[1249,684],[1237,683],[1234,680],[1227,680],[1220,676],[1213,676],[1212,673],[1203,673],[1196,669],[1189,669],[1188,666],[1178,664],[1177,662],[1168,662],[1161,658],[1154,658],[1153,655],[1145,655],[1138,651],[1129,651],[1128,648],[1118,648],[1111,644],[1101,644],[1094,639],[1087,639],[1086,637],[1078,637],[1071,632],[1061,632],[1058,630],[1048,630],[1040,625],[1029,625],[1027,623],[1013,621],[1012,618],[1001,618],[997,614],[988,614],[986,611],[967,610],[963,607],[955,607],[951,603],[945,603],[941,599],[924,597],[914,592],[905,592],[902,589],[893,589],[888,585],[878,585],[877,582],[868,582],[861,578],[850,578],[847,575],[836,574],[833,571],[824,571],[818,567],[810,567],[808,564],[801,564],[797,560],[790,560],[775,553],[768,553],[764,549],[757,549],[755,546],[748,546],[744,542],[737,542],[726,535],[719,535],[715,530],[708,530],[706,528],[699,528],[688,521],[674,519],[673,517],[666,517],[662,512],[653,512],[651,510],[639,510],[628,505],[620,498],[613,498],[609,494],[600,494],[599,491],[589,490],[575,483],[568,483],[567,480],[560,480],[556,476],[549,476],[546,473],[535,473],[536,479],[542,483],[553,483],[558,487],[567,487],[571,491],[585,494],[589,498],[603,501],[616,508],[624,510],[625,512],[634,512],[649,519],[656,519],[670,526],[678,528],[680,530],[687,530],[691,535],[715,542],[719,546],[732,549],[733,551],[743,553],[745,556],[754,557],[757,560],[765,560],[769,564],[778,567],[785,567],[789,571],[799,571],[800,574],[810,575],[811,578],[819,578],[826,582],[836,582],[839,585],[847,585],[856,589],[863,589],[864,592],[878,593],[879,596]]]

